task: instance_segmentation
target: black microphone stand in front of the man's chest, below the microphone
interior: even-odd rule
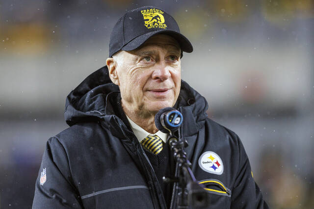
[[[172,134],[168,137],[168,144],[173,151],[173,156],[178,162],[178,176],[166,178],[164,182],[178,183],[181,189],[178,193],[178,208],[187,209],[189,206],[194,208],[204,208],[209,206],[209,198],[203,186],[197,183],[194,174],[191,170],[191,163],[186,157],[183,148],[188,146],[186,140],[180,140]]]

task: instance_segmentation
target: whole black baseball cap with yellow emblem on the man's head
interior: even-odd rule
[[[143,6],[127,12],[114,25],[110,36],[109,57],[120,50],[134,50],[160,33],[177,40],[182,51],[193,51],[193,46],[180,33],[179,26],[171,15],[154,6]]]

